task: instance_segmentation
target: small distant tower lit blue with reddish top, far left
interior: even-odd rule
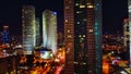
[[[9,26],[3,26],[3,32],[2,32],[2,44],[10,44],[9,39]]]

